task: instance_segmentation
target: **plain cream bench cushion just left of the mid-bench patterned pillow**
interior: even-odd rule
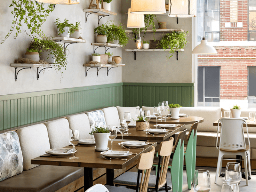
[[[71,115],[66,117],[68,119],[70,129],[78,129],[80,139],[91,139],[91,126],[89,123],[88,116],[84,113]]]

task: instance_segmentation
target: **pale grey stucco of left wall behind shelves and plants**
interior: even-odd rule
[[[9,7],[11,2],[12,0],[0,1],[1,41],[12,26],[12,9]],[[68,46],[70,51],[68,55],[68,66],[67,70],[63,71],[62,78],[61,74],[59,72],[57,73],[54,69],[46,69],[44,74],[42,72],[40,73],[40,78],[37,81],[36,68],[32,68],[20,71],[18,80],[15,82],[15,68],[10,67],[10,63],[24,56],[32,40],[24,33],[24,30],[27,29],[25,25],[21,28],[22,34],[19,34],[16,39],[13,38],[13,33],[4,44],[0,44],[0,95],[122,82],[122,68],[111,69],[108,76],[106,68],[100,69],[98,77],[96,68],[93,68],[88,71],[88,76],[85,77],[85,67],[83,67],[83,64],[92,60],[91,53],[93,52],[93,46],[91,43],[96,42],[93,30],[98,24],[97,16],[94,14],[89,15],[88,21],[85,23],[85,12],[83,12],[83,9],[88,8],[89,3],[89,0],[82,0],[77,5],[56,5],[54,11],[50,13],[42,26],[45,34],[56,36],[57,29],[54,23],[56,18],[60,17],[61,21],[68,18],[72,23],[75,23],[77,20],[81,21],[81,36],[87,42]],[[100,24],[105,23],[109,19],[121,21],[121,4],[122,1],[120,0],[112,1],[111,11],[116,12],[117,16],[104,17],[100,20]],[[122,48],[113,48],[109,51],[114,52],[114,56],[122,57]],[[96,52],[102,54],[104,53],[104,48],[98,48]]]

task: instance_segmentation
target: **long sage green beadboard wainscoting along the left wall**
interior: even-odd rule
[[[94,108],[123,105],[123,83],[0,96],[0,131]]]

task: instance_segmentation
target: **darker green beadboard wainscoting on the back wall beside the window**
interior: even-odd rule
[[[194,83],[124,83],[123,106],[157,106],[166,100],[183,107],[194,106]]]

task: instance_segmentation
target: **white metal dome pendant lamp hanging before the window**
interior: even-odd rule
[[[207,40],[205,40],[205,37],[203,37],[203,40],[201,40],[201,44],[197,45],[193,49],[192,54],[217,54],[217,51],[212,45],[209,45],[207,43]]]

